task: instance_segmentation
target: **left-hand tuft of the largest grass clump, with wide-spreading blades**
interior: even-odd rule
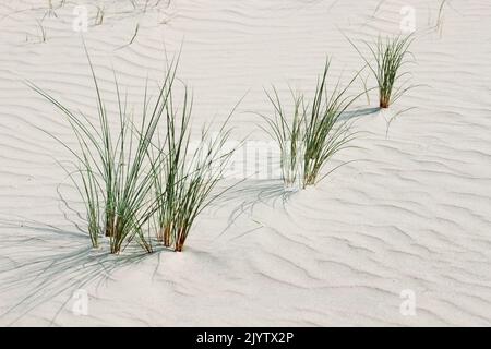
[[[72,180],[86,207],[93,245],[97,246],[99,236],[105,234],[109,238],[111,253],[123,251],[133,240],[145,251],[152,252],[152,243],[145,236],[144,226],[157,209],[157,201],[149,194],[154,188],[155,171],[160,164],[154,163],[151,167],[147,155],[157,124],[168,105],[177,63],[170,64],[152,108],[148,106],[151,100],[145,86],[142,119],[137,127],[125,97],[123,101],[116,75],[118,115],[115,118],[108,116],[88,53],[87,58],[97,96],[97,122],[83,113],[73,113],[45,91],[34,84],[31,86],[62,111],[76,136],[79,152],[56,139],[77,160],[77,171],[73,173],[77,178],[72,177]],[[118,121],[118,127],[111,125]]]

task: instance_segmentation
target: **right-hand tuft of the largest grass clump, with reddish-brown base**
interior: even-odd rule
[[[156,197],[159,202],[157,239],[167,248],[181,252],[197,215],[223,192],[212,195],[223,177],[233,152],[223,151],[230,133],[227,129],[231,113],[219,131],[211,135],[204,128],[197,142],[191,142],[190,120],[192,98],[184,88],[181,110],[175,109],[172,94],[166,106],[166,137],[159,143],[155,164],[163,164],[155,176]],[[163,158],[160,158],[163,157]]]

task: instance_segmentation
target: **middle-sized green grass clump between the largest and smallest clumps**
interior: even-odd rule
[[[265,118],[270,127],[268,133],[277,141],[282,155],[285,153],[289,156],[288,159],[282,156],[280,163],[286,186],[289,185],[286,178],[291,178],[291,174],[286,177],[285,173],[292,170],[297,171],[297,176],[301,176],[302,188],[315,185],[328,174],[320,174],[323,167],[354,139],[355,133],[350,131],[348,121],[342,120],[342,115],[362,95],[350,96],[347,93],[359,73],[345,87],[340,87],[338,81],[330,93],[330,65],[331,61],[327,60],[323,74],[318,80],[312,101],[307,101],[304,95],[294,95],[295,108],[289,119],[276,89],[274,98],[268,94],[275,109],[274,118]],[[299,154],[302,155],[301,166],[298,166]]]

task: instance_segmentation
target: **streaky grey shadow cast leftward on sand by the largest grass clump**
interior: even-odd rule
[[[110,255],[107,246],[91,248],[85,234],[36,221],[20,225],[2,219],[0,229],[3,230],[0,298],[7,303],[0,308],[0,318],[8,326],[15,325],[38,306],[56,299],[52,317],[49,315],[53,325],[58,315],[67,310],[75,290],[88,285],[97,289],[111,281],[116,270],[134,266],[147,256],[132,249],[129,253]]]

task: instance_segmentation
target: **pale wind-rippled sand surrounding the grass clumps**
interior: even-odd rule
[[[363,62],[344,35],[397,34],[400,9],[416,10],[409,69],[421,86],[388,117],[416,108],[387,132],[376,94],[361,98],[356,147],[333,166],[356,161],[287,201],[279,179],[249,179],[203,213],[183,253],[120,256],[88,248],[57,165],[69,154],[39,128],[74,140],[24,83],[96,111],[75,1],[47,2],[0,1],[1,325],[491,325],[488,0],[445,1],[440,14],[431,0],[79,1],[108,99],[112,68],[137,103],[182,45],[196,130],[246,95],[232,122],[252,140],[266,140],[251,112],[271,111],[263,87],[311,93],[326,55],[332,76],[348,79]],[[414,315],[400,312],[407,300]]]

